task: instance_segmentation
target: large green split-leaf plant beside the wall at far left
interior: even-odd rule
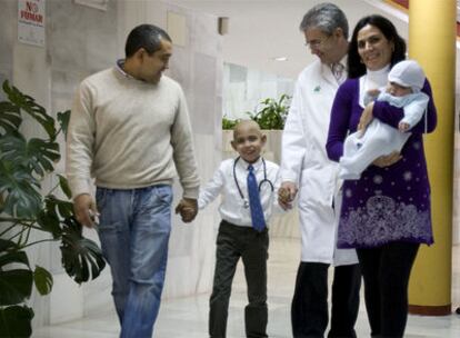
[[[27,299],[33,286],[40,295],[49,294],[53,280],[46,268],[30,265],[28,247],[59,241],[62,266],[78,284],[97,278],[106,262],[97,243],[82,236],[66,178],[58,175],[56,186],[43,193],[43,178],[56,176],[57,138],[66,133],[70,111],[59,112],[57,123],[33,98],[8,81],[2,88],[7,100],[0,102],[0,337],[30,337],[33,310]],[[24,113],[44,137],[21,132]],[[32,231],[46,238],[33,240]]]

